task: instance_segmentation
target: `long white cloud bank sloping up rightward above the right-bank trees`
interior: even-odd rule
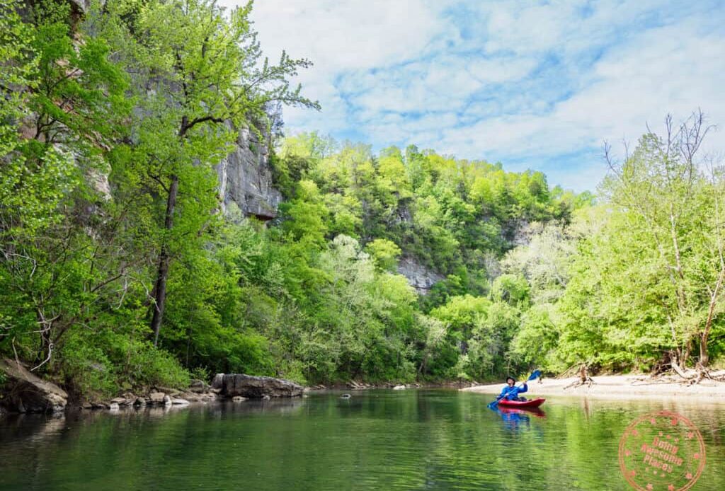
[[[704,106],[725,121],[725,39],[697,36],[695,25],[649,30],[594,66],[595,83],[539,116],[492,117],[447,130],[449,151],[499,156],[555,156],[603,140],[637,140],[665,114],[687,117]],[[715,141],[711,143],[716,145]]]

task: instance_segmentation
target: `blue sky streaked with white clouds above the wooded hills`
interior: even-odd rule
[[[725,125],[723,0],[256,0],[252,20],[270,60],[314,63],[294,82],[322,110],[284,109],[288,135],[415,144],[581,191],[606,173],[605,140],[698,108]]]

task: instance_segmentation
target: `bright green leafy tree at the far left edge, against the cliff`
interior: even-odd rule
[[[109,237],[88,209],[131,101],[107,43],[75,38],[67,2],[20,8],[0,4],[0,283],[18,336],[37,335],[37,368],[120,277],[99,270]]]

